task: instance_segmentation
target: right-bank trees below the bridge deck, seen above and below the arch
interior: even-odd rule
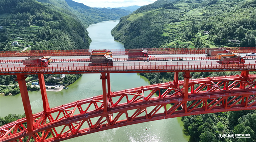
[[[256,72],[250,72],[255,74]],[[191,72],[192,79],[215,76],[239,75],[241,72]],[[140,73],[149,79],[150,84],[173,81],[174,73]],[[179,73],[179,80],[183,80]],[[195,85],[197,87],[197,85]],[[202,90],[206,90],[203,88]],[[191,90],[189,90],[191,91]],[[164,90],[161,90],[164,93]],[[156,92],[158,94],[158,92]],[[190,102],[192,103],[192,101]],[[191,104],[187,104],[189,106]],[[201,106],[199,106],[201,107]],[[185,134],[196,142],[255,142],[256,140],[256,111],[234,111],[202,114],[182,117]],[[224,135],[225,134],[225,135]],[[228,134],[250,134],[251,138],[227,138]],[[221,136],[221,137],[219,137]],[[224,137],[223,137],[224,136]],[[225,136],[227,136],[225,138]]]

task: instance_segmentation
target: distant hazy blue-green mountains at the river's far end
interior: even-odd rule
[[[90,24],[96,24],[101,21],[117,20],[123,16],[130,14],[130,11],[118,8],[92,8],[73,0],[37,0],[39,2],[52,4],[58,10],[69,11],[77,16],[87,28]],[[50,6],[50,5],[49,5]],[[61,8],[61,9],[59,9]],[[65,10],[65,11],[64,11]],[[66,12],[65,12],[66,13]]]

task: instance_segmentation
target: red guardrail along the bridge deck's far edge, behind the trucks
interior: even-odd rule
[[[256,47],[228,47],[234,53],[256,52]],[[113,55],[128,55],[129,49],[108,49]],[[169,54],[204,54],[205,48],[149,48],[149,55]],[[0,57],[29,57],[29,56],[89,56],[92,49],[81,50],[42,50],[42,51],[0,51]]]

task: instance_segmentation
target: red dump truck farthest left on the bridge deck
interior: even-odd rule
[[[49,65],[48,60],[43,57],[39,58],[26,58],[23,60],[23,65],[26,67],[47,67]]]

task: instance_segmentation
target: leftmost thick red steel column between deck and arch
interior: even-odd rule
[[[21,99],[22,99],[25,115],[27,118],[27,129],[28,129],[28,132],[32,132],[33,126],[34,126],[34,118],[31,110],[30,100],[28,97],[27,85],[25,81],[26,77],[25,75],[21,75],[21,74],[16,74],[16,76],[17,76],[16,81],[18,82],[20,87]]]

